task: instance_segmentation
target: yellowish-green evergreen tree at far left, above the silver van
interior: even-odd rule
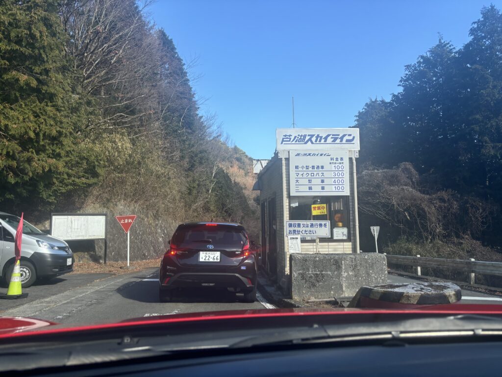
[[[54,202],[92,182],[74,133],[85,116],[56,0],[0,3],[0,202]]]

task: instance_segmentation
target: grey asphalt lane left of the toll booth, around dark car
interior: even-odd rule
[[[158,269],[150,268],[117,276],[92,279],[90,274],[68,275],[67,280],[80,279],[73,288],[60,281],[57,294],[32,296],[38,292],[30,287],[31,301],[17,300],[16,307],[0,313],[2,316],[34,317],[64,324],[94,324],[117,322],[130,318],[220,310],[266,309],[272,307],[261,295],[255,303],[243,303],[241,295],[226,290],[185,289],[175,294],[171,303],[159,303]],[[95,274],[94,274],[95,275]],[[94,276],[96,277],[96,276]],[[28,292],[28,290],[26,290]],[[42,297],[43,296],[43,297]],[[33,299],[34,298],[34,299]],[[0,308],[3,304],[0,300]],[[13,305],[13,304],[11,304]]]

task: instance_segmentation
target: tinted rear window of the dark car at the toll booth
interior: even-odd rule
[[[219,247],[239,247],[246,243],[241,229],[225,225],[188,225],[178,228],[172,244],[177,247],[200,247],[207,244]]]

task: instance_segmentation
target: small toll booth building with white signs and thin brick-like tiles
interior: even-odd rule
[[[272,159],[257,175],[262,268],[290,287],[290,254],[357,253],[359,130],[278,129]]]

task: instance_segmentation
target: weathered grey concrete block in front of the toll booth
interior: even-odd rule
[[[387,282],[383,254],[291,254],[289,262],[293,299],[349,297],[362,286]]]

